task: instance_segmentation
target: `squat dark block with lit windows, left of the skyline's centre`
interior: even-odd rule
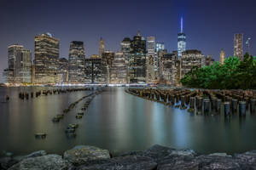
[[[107,78],[107,64],[102,58],[85,59],[85,83],[105,84]]]

